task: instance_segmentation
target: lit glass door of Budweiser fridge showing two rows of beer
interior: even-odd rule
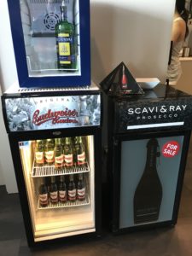
[[[34,241],[96,231],[94,136],[79,138],[19,143]]]

